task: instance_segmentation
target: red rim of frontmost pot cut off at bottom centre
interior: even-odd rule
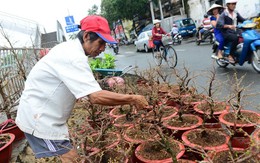
[[[178,147],[179,147],[179,152],[177,153],[176,155],[176,159],[179,159],[185,152],[185,147],[182,143],[176,141],[176,140],[173,140],[171,139],[171,141],[173,141],[174,143],[177,143],[178,144]],[[135,149],[135,156],[136,158],[138,159],[138,162],[139,163],[171,163],[172,162],[172,158],[169,157],[169,158],[162,158],[162,159],[158,159],[158,160],[150,160],[148,159],[147,157],[144,157],[141,155],[141,151],[153,151],[152,155],[155,155],[155,153],[157,154],[161,154],[162,155],[162,152],[164,151],[163,149],[161,150],[158,150],[158,151],[155,151],[155,150],[151,150],[151,149],[145,149],[145,147],[147,147],[147,145],[151,145],[153,144],[154,142],[156,141],[147,141],[147,142],[144,142],[144,143],[141,143],[140,145],[138,145],[138,147]],[[157,142],[158,143],[158,142]],[[158,143],[159,144],[159,143]],[[163,148],[163,147],[162,147]],[[166,152],[166,151],[165,151]],[[165,153],[164,152],[164,153]],[[148,153],[147,153],[148,154]]]

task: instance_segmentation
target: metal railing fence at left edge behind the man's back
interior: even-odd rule
[[[0,48],[0,109],[17,103],[27,75],[39,60],[40,50]]]

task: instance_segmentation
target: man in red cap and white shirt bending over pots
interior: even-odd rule
[[[92,104],[124,105],[137,109],[148,103],[144,96],[102,90],[88,64],[105,50],[106,43],[116,43],[108,22],[101,16],[87,16],[80,21],[77,39],[52,48],[31,70],[20,98],[16,123],[25,133],[36,158],[60,156],[62,162],[75,162],[77,151],[69,141],[66,125],[77,99]]]

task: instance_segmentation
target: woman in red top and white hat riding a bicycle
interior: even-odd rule
[[[152,29],[152,38],[153,43],[156,46],[156,51],[160,52],[160,46],[163,46],[162,43],[162,35],[168,35],[164,29],[161,27],[161,21],[158,19],[155,19],[153,21],[154,27]]]

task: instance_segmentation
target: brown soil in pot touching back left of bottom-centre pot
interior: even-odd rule
[[[158,139],[159,135],[155,126],[149,123],[141,123],[130,126],[124,133],[124,139],[133,144]]]

